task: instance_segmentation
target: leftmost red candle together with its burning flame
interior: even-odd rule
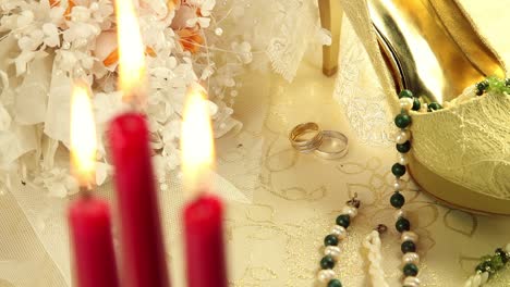
[[[110,209],[87,190],[95,178],[97,144],[89,92],[86,84],[75,83],[71,105],[71,163],[82,186],[81,198],[69,209],[75,279],[78,287],[117,287]]]

